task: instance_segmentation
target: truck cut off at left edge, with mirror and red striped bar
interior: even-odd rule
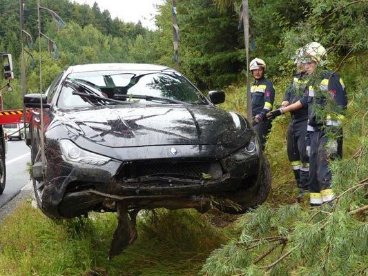
[[[2,59],[4,72],[3,76],[4,79],[6,79],[6,83],[0,83],[0,195],[3,193],[6,184],[6,133],[4,133],[3,125],[20,124],[25,121],[23,120],[23,110],[3,110],[3,88],[7,88],[9,92],[12,91],[10,81],[14,79],[14,73],[12,66],[12,55],[2,53]]]

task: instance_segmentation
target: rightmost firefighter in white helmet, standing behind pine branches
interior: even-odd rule
[[[308,97],[290,106],[269,112],[274,118],[285,112],[308,106],[310,133],[309,191],[311,206],[331,202],[331,171],[329,162],[342,157],[342,119],[347,107],[344,82],[335,72],[323,70],[326,50],[320,43],[311,42],[304,46],[300,55],[307,75],[310,75]],[[320,74],[316,73],[320,72]],[[318,74],[318,75],[317,75]]]

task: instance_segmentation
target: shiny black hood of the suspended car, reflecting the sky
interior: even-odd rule
[[[79,136],[114,148],[226,145],[244,136],[244,132],[253,132],[241,115],[200,105],[79,108],[59,112],[57,117],[72,133],[77,131]]]

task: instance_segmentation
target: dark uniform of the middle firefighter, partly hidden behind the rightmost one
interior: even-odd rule
[[[306,96],[307,79],[302,73],[293,76],[293,81],[285,92],[284,100],[296,103]],[[291,112],[291,121],[287,128],[287,156],[293,168],[296,183],[300,190],[300,198],[304,190],[308,190],[309,157],[306,155],[308,108],[303,106]],[[298,197],[299,199],[299,197]]]

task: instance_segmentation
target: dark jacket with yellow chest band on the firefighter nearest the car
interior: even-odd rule
[[[275,89],[271,81],[268,79],[255,80],[251,86],[252,99],[252,116],[260,115],[266,119],[264,115],[272,110],[273,101],[275,101]]]

